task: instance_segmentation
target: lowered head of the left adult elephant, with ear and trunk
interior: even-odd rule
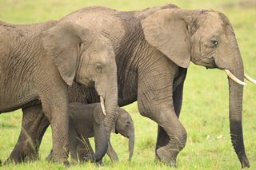
[[[42,42],[47,56],[54,61],[67,85],[72,85],[73,81],[82,85],[94,82],[102,101],[103,113],[106,114],[109,140],[118,105],[117,68],[110,40],[82,26],[62,22],[45,31]],[[96,160],[106,153],[108,142],[102,143]]]

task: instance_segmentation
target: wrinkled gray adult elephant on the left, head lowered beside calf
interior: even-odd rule
[[[24,26],[0,22],[0,113],[21,108],[24,114],[34,109],[44,113],[53,132],[54,160],[66,165],[68,85],[74,81],[87,86],[94,82],[106,101],[106,125],[112,127],[118,90],[114,51],[107,38],[71,22]],[[102,140],[97,159],[106,153],[107,143]],[[26,154],[30,150],[10,161],[20,162]]]

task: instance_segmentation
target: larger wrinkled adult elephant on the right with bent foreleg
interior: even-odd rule
[[[94,22],[90,22],[92,19]],[[178,117],[190,61],[206,68],[229,69],[243,81],[234,30],[228,18],[217,11],[167,5],[121,12],[94,6],[67,15],[61,20],[65,21],[110,38],[118,67],[118,105],[138,101],[139,113],[158,124],[156,159],[171,166],[186,144],[186,130]],[[250,167],[242,136],[243,86],[230,78],[228,83],[232,144],[242,168]],[[93,102],[90,99],[94,95],[88,94],[86,98]],[[47,126],[40,121],[38,124]]]

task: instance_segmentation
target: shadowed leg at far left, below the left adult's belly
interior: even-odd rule
[[[50,125],[47,117],[42,113],[41,105],[23,108],[22,112],[22,129],[6,163],[9,161],[21,163],[24,160],[38,159],[38,149],[42,136]]]

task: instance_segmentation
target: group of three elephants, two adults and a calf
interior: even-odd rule
[[[231,141],[242,168],[250,167],[242,96],[244,77],[255,81],[244,73],[224,14],[173,4],[126,12],[91,6],[58,21],[0,22],[0,113],[23,113],[18,142],[5,164],[37,159],[49,125],[48,160],[69,165],[70,151],[74,162],[101,162],[106,152],[116,161],[110,132],[129,138],[130,160],[134,123],[118,106],[138,101],[139,113],[158,124],[156,159],[175,167],[186,145],[178,117],[190,61],[226,72]],[[93,136],[95,152],[88,140]]]

